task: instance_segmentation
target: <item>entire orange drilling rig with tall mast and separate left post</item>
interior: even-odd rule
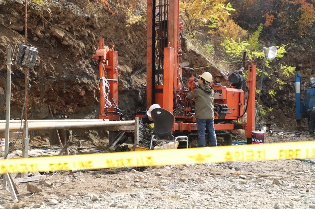
[[[198,79],[193,75],[187,81],[182,79],[183,72],[179,57],[182,54],[180,39],[183,23],[179,15],[179,0],[148,0],[147,6],[146,107],[148,109],[152,104],[157,103],[172,112],[175,116],[174,135],[190,136],[189,146],[196,147],[195,100],[186,99],[186,95],[195,89]],[[113,47],[111,51],[108,47],[104,47],[104,39],[101,39],[99,49],[93,58],[99,63],[101,94],[99,119],[118,120],[121,112],[117,107],[117,52]],[[245,53],[243,67],[245,68]],[[104,79],[106,70],[108,70],[108,78]],[[250,142],[252,131],[255,130],[256,65],[253,61],[250,62],[247,70],[247,80],[240,73],[232,73],[228,77],[227,86],[212,84],[212,87],[215,91],[216,134],[220,131],[245,129],[246,137]],[[106,86],[104,81],[108,81],[110,85]],[[106,90],[107,87],[109,91]],[[247,113],[247,121],[241,123],[245,113]],[[144,114],[144,111],[138,111],[136,117],[141,119]],[[224,136],[224,143],[221,144],[231,145],[231,136],[229,135],[229,138]]]

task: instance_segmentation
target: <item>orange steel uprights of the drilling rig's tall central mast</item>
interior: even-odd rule
[[[153,104],[152,102],[152,10],[153,0],[148,0],[147,9],[147,109]],[[161,105],[162,108],[173,112],[174,85],[176,91],[181,88],[179,82],[179,74],[182,76],[182,70],[179,68],[179,56],[181,55],[181,47],[179,43],[180,29],[182,23],[179,19],[179,0],[168,1],[168,46],[164,49],[164,71],[163,85],[155,85],[155,89],[160,89],[159,93],[155,93],[155,103]],[[162,92],[161,92],[162,91]]]

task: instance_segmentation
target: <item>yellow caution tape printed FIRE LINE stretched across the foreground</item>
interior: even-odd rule
[[[0,174],[315,158],[315,141],[0,160]]]

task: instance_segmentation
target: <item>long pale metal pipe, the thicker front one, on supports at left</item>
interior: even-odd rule
[[[29,122],[29,120],[28,120]],[[24,125],[23,125],[24,126]],[[22,130],[23,130],[22,126]],[[51,130],[51,129],[68,129],[68,128],[88,128],[88,127],[115,127],[115,126],[135,126],[135,120],[127,121],[92,121],[92,122],[38,122],[29,123],[29,130]],[[10,125],[10,131],[19,131],[21,125],[13,123]],[[5,130],[5,125],[0,124],[0,132]]]

